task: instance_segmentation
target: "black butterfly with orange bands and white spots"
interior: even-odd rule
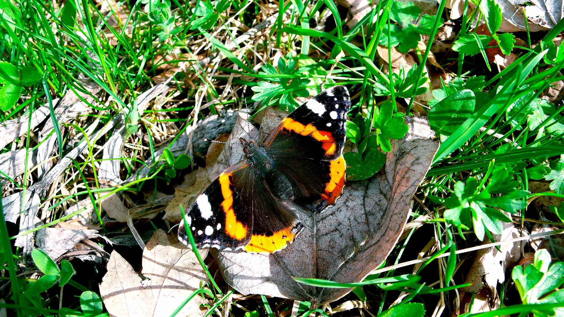
[[[178,229],[197,248],[274,253],[303,229],[298,214],[322,212],[345,186],[345,86],[331,87],[291,112],[261,142],[240,138],[244,159],[196,198]]]

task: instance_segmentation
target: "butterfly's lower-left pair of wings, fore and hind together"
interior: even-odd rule
[[[196,246],[273,253],[301,231],[293,204],[273,196],[254,166],[241,161],[223,171],[186,215]],[[181,223],[179,239],[186,243]]]

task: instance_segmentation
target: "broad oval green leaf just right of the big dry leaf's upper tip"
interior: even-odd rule
[[[474,113],[476,97],[465,89],[440,100],[429,110],[429,125],[436,133],[451,135]]]

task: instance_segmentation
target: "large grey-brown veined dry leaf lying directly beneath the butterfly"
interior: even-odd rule
[[[275,111],[275,110],[273,110]],[[262,129],[272,130],[280,117],[267,115]],[[258,140],[258,131],[240,115],[230,140]],[[321,214],[300,214],[305,229],[292,245],[274,254],[212,250],[227,283],[242,294],[265,294],[327,303],[350,289],[315,288],[292,276],[358,282],[378,266],[395,245],[411,210],[411,196],[429,169],[438,142],[428,122],[406,117],[409,132],[393,140],[384,173],[369,180],[347,183],[342,197]],[[239,162],[243,151],[226,144],[213,176]]]

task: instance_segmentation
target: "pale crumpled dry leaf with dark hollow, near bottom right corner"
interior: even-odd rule
[[[521,236],[518,228],[511,222],[504,222],[501,235],[493,235],[495,241],[505,241]],[[490,241],[487,241],[490,243]],[[478,250],[474,257],[472,267],[466,275],[465,283],[472,283],[460,292],[460,312],[486,312],[500,307],[500,298],[497,293],[497,284],[503,285],[506,271],[510,270],[521,258],[521,244],[501,244],[501,252],[494,247]],[[474,297],[472,310],[469,310],[470,301]],[[458,313],[458,314],[456,314]]]

